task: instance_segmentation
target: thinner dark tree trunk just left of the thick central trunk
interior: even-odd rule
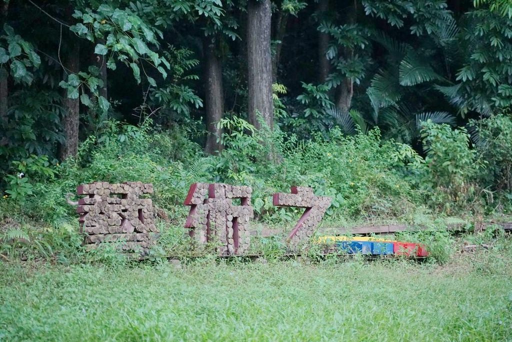
[[[222,149],[222,145],[217,141],[222,130],[217,128],[217,123],[222,119],[224,114],[224,96],[222,87],[222,63],[216,54],[215,40],[209,37],[204,39],[205,52],[205,109],[206,109],[206,129],[208,135],[206,137],[205,152],[214,154]]]

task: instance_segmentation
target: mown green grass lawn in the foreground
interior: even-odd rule
[[[0,264],[0,340],[511,340],[512,260]]]

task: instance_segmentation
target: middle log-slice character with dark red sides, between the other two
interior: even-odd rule
[[[192,184],[184,203],[190,206],[185,228],[198,246],[213,242],[218,244],[220,255],[245,253],[250,244],[249,221],[254,215],[251,193],[247,186]],[[233,198],[240,198],[239,206],[233,204]]]

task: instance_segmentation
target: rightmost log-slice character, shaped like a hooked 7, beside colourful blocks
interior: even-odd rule
[[[288,243],[296,247],[313,235],[327,208],[331,205],[331,198],[315,196],[311,188],[292,186],[291,194],[274,193],[273,205],[306,208],[288,235]]]

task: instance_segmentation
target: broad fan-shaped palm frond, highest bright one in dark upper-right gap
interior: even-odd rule
[[[433,79],[442,79],[429,63],[422,61],[414,53],[408,53],[402,59],[398,72],[400,85],[402,86],[415,86],[423,82],[432,81]]]

